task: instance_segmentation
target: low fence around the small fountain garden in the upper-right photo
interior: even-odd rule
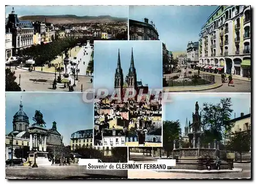
[[[215,76],[209,74],[184,73],[184,77],[179,76],[164,76],[163,87],[178,87],[178,86],[199,86],[215,83]]]

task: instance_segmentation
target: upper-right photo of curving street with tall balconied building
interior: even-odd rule
[[[251,18],[242,5],[130,6],[129,40],[163,41],[166,92],[247,93]]]

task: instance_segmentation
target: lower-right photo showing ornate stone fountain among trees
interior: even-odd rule
[[[167,170],[129,170],[128,177],[250,178],[250,93],[169,94],[172,102],[163,102],[163,147],[129,147],[130,163],[164,161]],[[168,167],[171,160],[176,165]]]

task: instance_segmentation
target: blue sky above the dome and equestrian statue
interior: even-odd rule
[[[6,134],[13,130],[12,120],[19,110],[21,95],[30,125],[34,123],[35,110],[40,110],[47,128],[52,128],[52,122],[56,121],[65,145],[70,145],[72,133],[93,128],[93,103],[84,103],[81,93],[6,92]]]

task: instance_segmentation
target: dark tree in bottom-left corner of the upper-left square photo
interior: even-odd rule
[[[5,91],[21,91],[18,84],[15,82],[16,76],[9,69],[5,69]]]

